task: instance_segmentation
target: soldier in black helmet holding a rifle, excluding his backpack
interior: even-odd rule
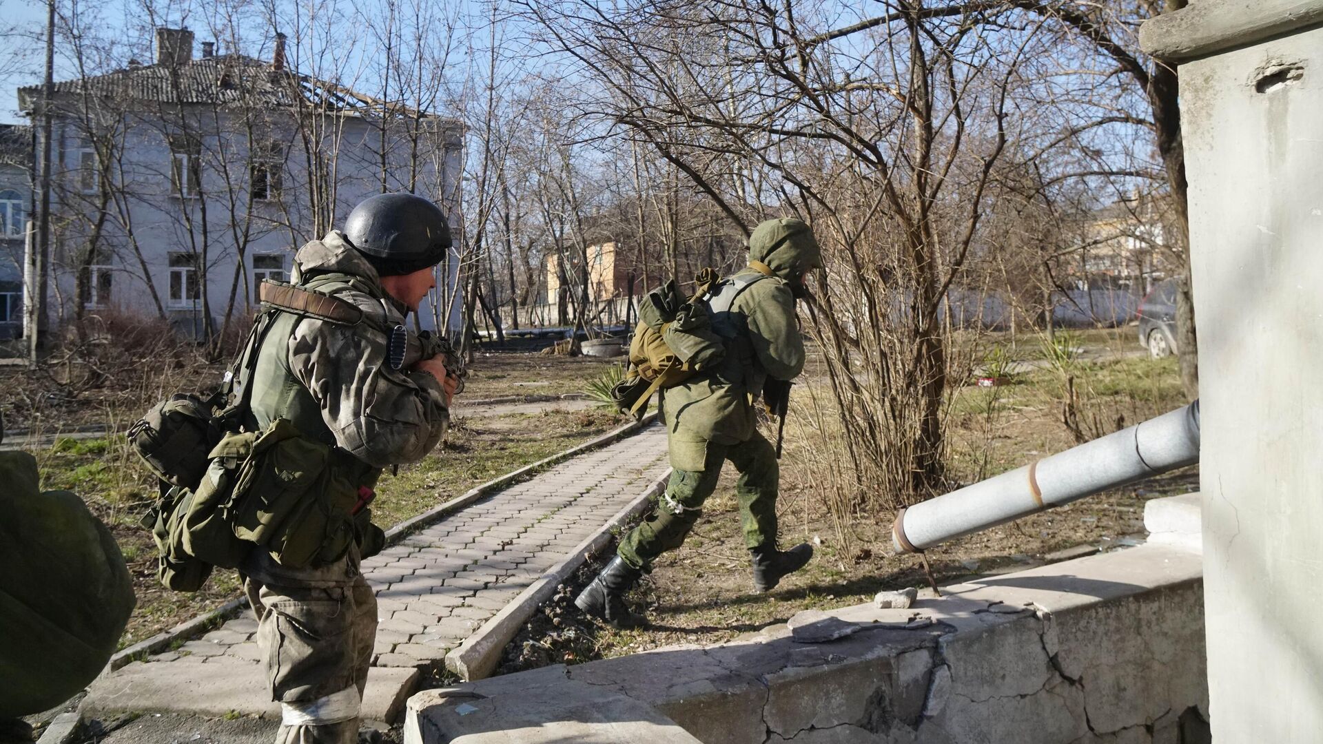
[[[382,467],[431,451],[458,381],[441,359],[393,368],[390,330],[418,310],[448,250],[442,210],[407,193],[368,199],[344,232],[300,248],[294,283],[352,303],[364,322],[282,314],[258,351],[249,426],[291,421],[304,437],[339,447],[336,467],[365,488]],[[255,549],[241,567],[267,683],[283,708],[278,744],[359,740],[377,630],[377,601],[359,561],[351,545],[340,560],[291,569]]]

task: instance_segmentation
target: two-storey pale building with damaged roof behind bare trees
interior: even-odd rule
[[[287,278],[294,249],[384,191],[427,196],[458,222],[460,123],[288,69],[283,36],[274,49],[261,61],[204,42],[194,58],[193,32],[160,28],[153,64],[56,83],[53,326],[123,312],[188,335],[246,323],[261,279]],[[40,87],[19,99],[42,119]],[[458,328],[458,263],[423,327]]]

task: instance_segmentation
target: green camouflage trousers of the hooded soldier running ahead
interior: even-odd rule
[[[775,544],[781,471],[775,447],[755,432],[753,438],[736,445],[708,442],[701,471],[673,470],[665,492],[643,523],[620,540],[617,555],[634,568],[652,571],[654,559],[679,548],[703,515],[703,503],[717,488],[721,466],[728,459],[740,471],[736,498],[745,545]]]

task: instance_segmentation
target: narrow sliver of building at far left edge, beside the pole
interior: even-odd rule
[[[32,127],[0,124],[0,339],[22,335],[22,250],[32,214]]]

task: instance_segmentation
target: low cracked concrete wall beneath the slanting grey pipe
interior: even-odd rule
[[[1144,545],[791,625],[419,692],[405,741],[1208,740],[1197,551]]]

